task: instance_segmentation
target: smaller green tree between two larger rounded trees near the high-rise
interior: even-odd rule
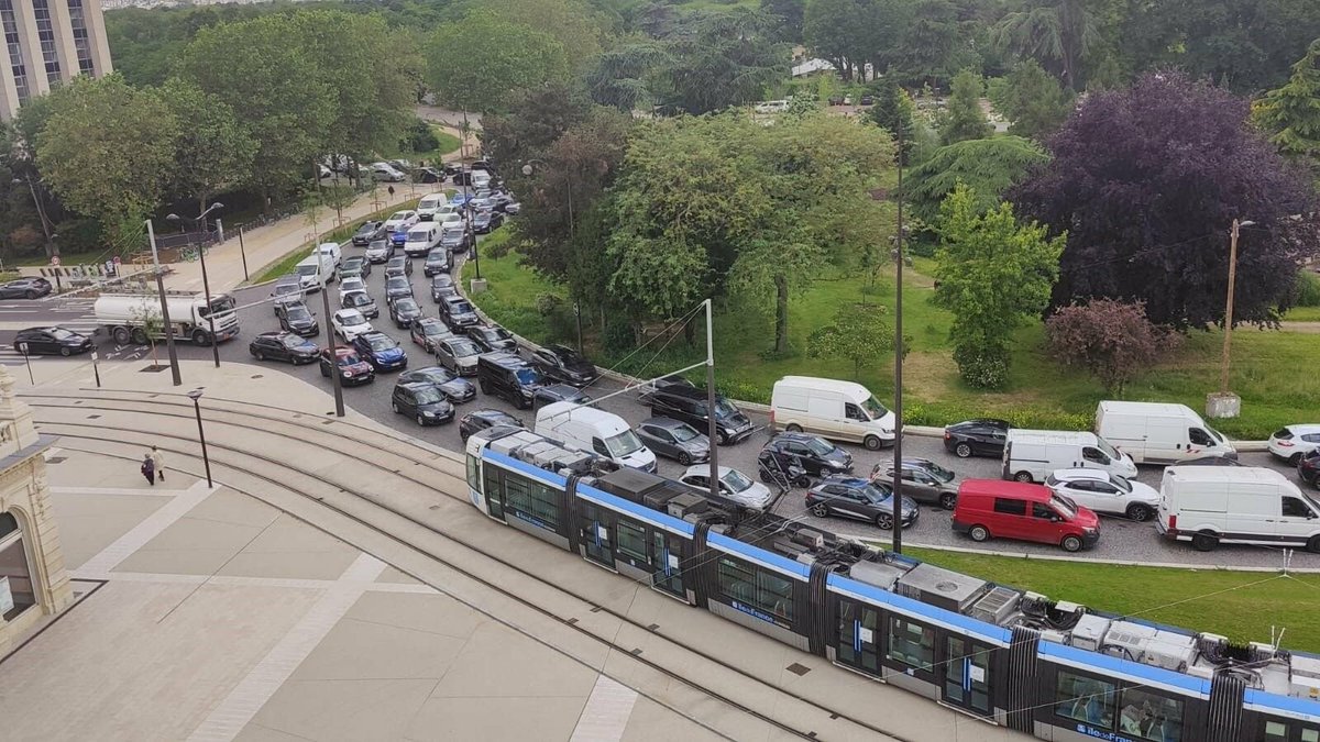
[[[172,185],[195,198],[201,214],[213,194],[248,178],[259,145],[228,103],[194,83],[172,78],[156,94],[178,121]]]

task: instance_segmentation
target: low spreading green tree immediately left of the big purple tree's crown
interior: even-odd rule
[[[960,182],[973,193],[977,211],[985,213],[998,206],[1032,168],[1048,161],[1040,147],[1019,136],[972,139],[936,149],[929,160],[912,168],[903,190],[913,214],[935,224],[940,205]]]

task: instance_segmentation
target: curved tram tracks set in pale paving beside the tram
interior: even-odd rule
[[[65,411],[74,411],[74,412],[92,412],[98,415],[100,413],[150,415],[154,417],[178,419],[185,424],[190,424],[194,419],[194,411],[191,409],[190,404],[191,400],[189,400],[185,395],[129,392],[129,396],[98,395],[92,400],[88,400],[88,397],[84,395],[74,396],[74,395],[36,393],[36,395],[25,395],[25,397],[32,400],[29,401],[29,404],[33,408],[48,413],[44,416],[38,416],[38,422],[41,425],[42,433],[61,436],[69,440],[99,441],[111,444],[128,442],[124,441],[124,434],[131,433],[135,436],[141,436],[144,438],[144,442],[141,444],[132,442],[131,445],[145,446],[154,444],[160,445],[168,453],[177,454],[180,457],[193,458],[197,455],[197,448],[194,448],[194,440],[190,432],[173,434],[173,433],[162,433],[157,429],[148,429],[140,425],[125,426],[124,424],[120,422],[116,424],[90,422],[86,420],[73,421],[73,420],[57,420],[50,417],[51,415],[55,416],[63,415]],[[166,397],[166,399],[160,399],[160,397]],[[36,400],[54,400],[54,401],[36,401]],[[143,407],[152,408],[152,411],[144,412]],[[304,417],[309,420],[317,420],[317,422],[308,424],[305,421],[301,421]],[[341,436],[331,433],[329,430],[329,425],[326,428],[318,426],[325,422],[329,422],[330,425],[348,425],[354,428],[356,433],[360,433],[360,437],[356,441],[345,441],[345,438],[342,438]],[[347,481],[342,477],[334,477],[335,471],[313,471],[309,469],[288,463],[288,461],[293,459],[294,457],[277,458],[275,455],[271,455],[271,453],[277,452],[280,449],[272,445],[267,446],[260,445],[260,438],[261,436],[271,436],[279,438],[280,445],[284,446],[306,445],[306,446],[333,450],[334,453],[342,457],[350,458],[356,465],[370,467],[379,475],[400,477],[405,481],[425,487],[428,491],[442,492],[450,500],[455,500],[457,503],[459,503],[465,512],[475,514],[475,511],[471,510],[470,503],[467,502],[467,498],[465,495],[455,494],[451,491],[454,489],[458,489],[466,492],[467,489],[463,477],[463,463],[461,461],[454,461],[453,454],[429,453],[426,452],[426,449],[417,448],[414,445],[414,441],[403,434],[395,434],[391,432],[348,421],[319,420],[318,416],[310,413],[282,411],[280,408],[273,408],[269,405],[259,405],[243,400],[209,397],[207,424],[239,428],[246,432],[243,440],[244,441],[252,440],[253,442],[253,445],[251,446],[236,446],[236,445],[230,445],[227,442],[209,442],[207,448],[220,454],[215,455],[213,453],[211,457],[213,463],[219,463],[219,466],[228,469],[234,473],[242,473],[243,475],[253,477],[264,483],[277,486],[281,490],[288,491],[296,496],[315,500],[318,504],[327,507],[342,516],[346,516],[352,522],[366,528],[370,528],[374,532],[385,536],[392,541],[401,544],[425,556],[426,558],[434,560],[436,562],[442,564],[450,569],[455,569],[463,574],[467,574],[486,589],[494,590],[500,595],[516,601],[517,603],[546,618],[550,618],[558,622],[560,624],[569,627],[573,631],[583,636],[587,636],[591,640],[603,644],[610,650],[619,652],[620,655],[627,655],[634,658],[635,661],[642,663],[656,672],[661,672],[671,679],[680,681],[686,687],[698,691],[702,694],[709,696],[711,700],[715,700],[730,708],[738,709],[744,714],[748,714],[767,725],[771,725],[784,733],[792,734],[799,738],[813,739],[813,738],[833,737],[833,734],[822,735],[824,729],[809,729],[809,730],[797,729],[789,724],[783,722],[779,718],[775,718],[774,716],[771,716],[771,713],[751,708],[750,705],[737,698],[733,698],[727,693],[723,693],[715,688],[696,684],[688,677],[685,677],[682,673],[678,673],[648,658],[639,656],[635,647],[619,644],[611,636],[605,636],[601,635],[599,632],[593,631],[586,624],[583,624],[583,622],[578,621],[577,615],[561,615],[561,613],[564,611],[554,613],[549,609],[545,609],[541,605],[537,605],[537,602],[529,601],[528,598],[515,593],[510,588],[499,584],[498,580],[477,574],[471,569],[458,565],[453,560],[444,557],[442,555],[438,555],[434,551],[407,541],[395,535],[388,528],[375,522],[375,519],[352,512],[351,507],[346,508],[342,504],[335,503],[333,500],[337,496],[347,495],[350,498],[355,498],[360,503],[366,503],[375,508],[383,510],[384,512],[395,518],[404,519],[405,522],[413,525],[425,528],[426,531],[447,540],[449,543],[459,547],[461,549],[466,549],[479,556],[480,560],[487,560],[490,562],[498,564],[503,568],[512,570],[512,573],[523,578],[529,578],[535,581],[537,585],[569,598],[573,602],[583,603],[582,611],[570,611],[570,613],[577,613],[578,615],[583,613],[603,613],[620,623],[626,623],[634,627],[636,631],[663,639],[664,642],[669,643],[672,647],[680,650],[684,654],[693,655],[704,661],[711,663],[717,668],[721,668],[730,673],[735,673],[743,680],[751,681],[758,687],[768,691],[770,693],[779,696],[780,698],[796,701],[799,704],[803,704],[807,709],[812,709],[814,712],[825,714],[825,717],[828,717],[828,721],[825,722],[826,725],[840,726],[840,722],[842,722],[842,726],[853,726],[855,730],[865,730],[866,733],[894,737],[894,733],[888,730],[880,729],[865,720],[859,720],[853,716],[840,713],[838,710],[825,705],[818,700],[780,688],[718,656],[714,656],[700,648],[688,646],[680,638],[665,635],[655,626],[644,626],[642,622],[630,618],[627,614],[603,605],[603,601],[601,601],[599,598],[593,598],[590,595],[569,590],[561,584],[552,582],[515,562],[511,562],[510,560],[502,557],[499,553],[491,552],[487,548],[474,544],[470,539],[465,539],[459,535],[453,533],[451,531],[437,527],[432,523],[426,523],[405,512],[404,510],[389,504],[388,502],[383,502],[380,496],[368,494],[360,483]],[[282,429],[284,432],[282,433],[279,432],[280,429]],[[187,429],[185,428],[185,430]],[[107,434],[99,434],[100,432],[104,432]],[[161,442],[165,442],[165,445],[161,445]],[[363,458],[362,455],[363,450],[362,446],[364,445],[371,446],[372,450],[368,458]],[[395,449],[395,446],[400,445],[405,448],[403,448],[401,450]],[[104,452],[96,452],[96,453],[104,453]],[[230,461],[231,457],[240,458],[240,461],[239,462]],[[272,474],[257,473],[252,466],[253,462],[261,462],[263,466],[276,467],[276,471]],[[426,467],[425,475],[420,475],[417,470],[418,466]],[[317,490],[319,487],[294,486],[292,483],[294,477],[290,477],[290,474],[313,481],[319,487],[325,487],[331,491],[327,495],[318,492]],[[239,490],[238,487],[235,489]],[[260,494],[256,492],[247,491],[246,494],[249,494],[259,499],[264,499],[261,498]],[[453,504],[450,507],[453,507]],[[523,535],[519,533],[517,536],[521,537]],[[442,588],[438,586],[437,589],[442,590]],[[455,597],[455,599],[458,598]],[[477,606],[470,606],[470,607],[477,607]],[[517,627],[513,628],[519,630]],[[536,638],[533,636],[533,639]],[[668,704],[665,704],[664,700],[655,697],[652,697],[652,700],[655,700],[661,705],[668,706]],[[775,709],[780,708],[780,704],[776,701],[770,701],[768,705],[770,708]],[[684,710],[680,709],[673,709],[673,710],[686,716],[688,718],[692,718]],[[710,729],[709,725],[698,720],[693,721],[696,721],[697,724],[702,724],[702,726]],[[711,730],[723,734],[718,730],[714,729]],[[846,731],[846,730],[841,729],[840,731]]]

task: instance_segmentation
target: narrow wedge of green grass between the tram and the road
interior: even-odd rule
[[[1236,642],[1269,642],[1284,627],[1283,646],[1320,651],[1320,576],[1218,569],[1162,569],[904,548],[904,553],[983,580],[1035,590],[1055,601],[1222,634]]]

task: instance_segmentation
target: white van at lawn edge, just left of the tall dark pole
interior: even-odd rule
[[[894,442],[894,413],[862,384],[834,379],[784,376],[775,382],[770,425],[857,441],[870,450]]]

